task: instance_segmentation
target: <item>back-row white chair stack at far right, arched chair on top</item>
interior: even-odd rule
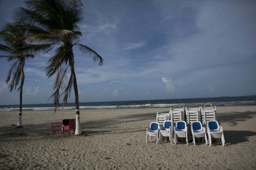
[[[212,104],[205,104],[204,107],[201,107],[202,112],[202,124],[206,125],[210,120],[217,120],[216,118],[216,106]]]

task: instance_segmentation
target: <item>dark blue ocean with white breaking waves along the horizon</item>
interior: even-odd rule
[[[163,99],[144,101],[108,101],[80,103],[80,110],[90,109],[127,109],[127,108],[177,108],[177,107],[199,107],[206,103],[213,106],[256,106],[256,96],[240,97],[209,97],[194,99]],[[22,110],[53,110],[53,104],[23,104]],[[74,103],[67,103],[57,110],[74,110]],[[19,110],[19,104],[0,105],[0,111]]]

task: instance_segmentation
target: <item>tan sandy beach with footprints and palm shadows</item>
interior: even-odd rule
[[[145,143],[156,112],[169,108],[81,110],[82,135],[51,134],[74,110],[0,112],[0,169],[256,169],[256,106],[218,107],[225,146]]]

